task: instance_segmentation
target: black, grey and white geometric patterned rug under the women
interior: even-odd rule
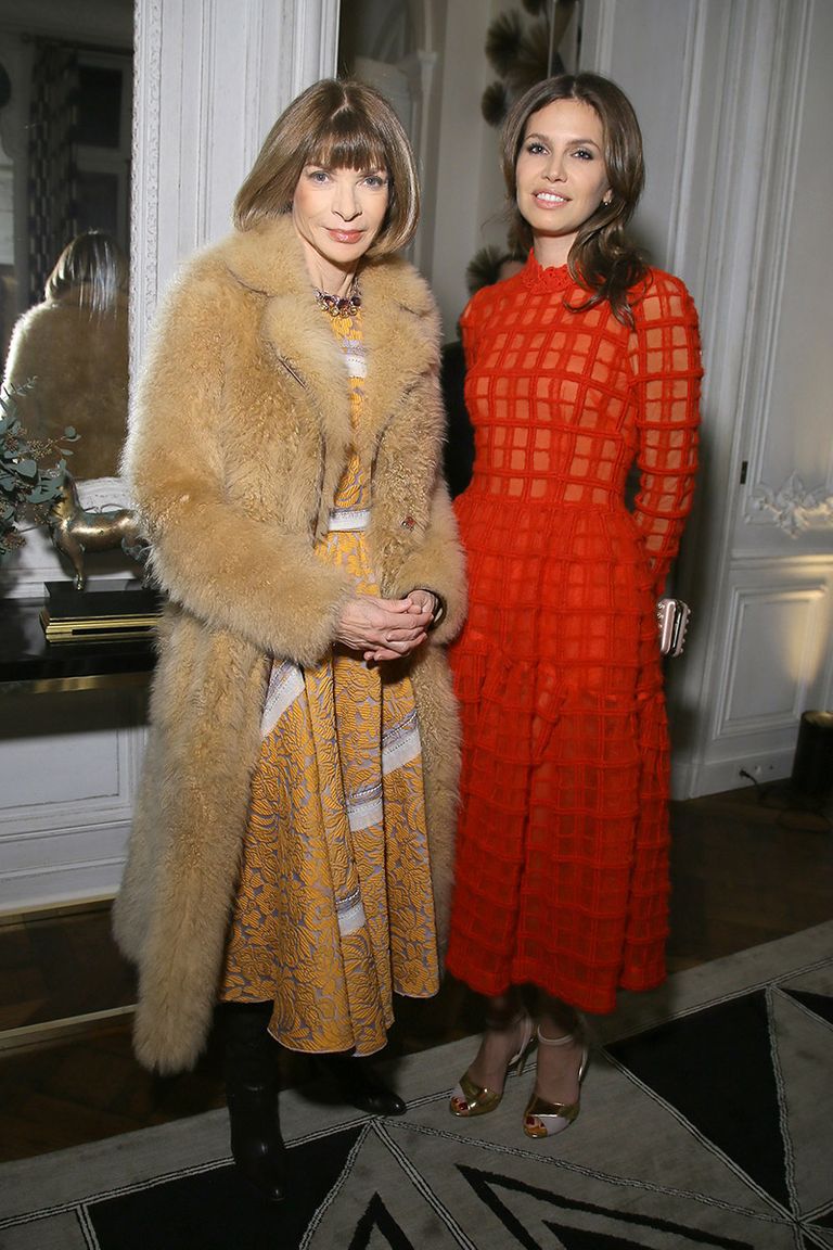
[[[533,1065],[447,1099],[472,1040],[388,1075],[407,1115],[281,1095],[291,1191],[250,1196],[225,1111],[0,1168],[2,1250],[833,1250],[833,922],[623,995],[582,1112],[535,1142]],[[317,1096],[316,1096],[317,1095]]]

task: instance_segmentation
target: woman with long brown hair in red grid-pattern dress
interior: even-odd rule
[[[487,1028],[451,1110],[493,1110],[537,1038],[523,1128],[541,1138],[578,1114],[579,1012],[664,976],[656,602],[691,508],[702,369],[686,288],[624,235],[643,160],[623,92],[593,74],[537,84],[506,121],[503,170],[532,250],[462,318],[477,451],[456,501],[470,614],[452,649],[465,750],[447,964],[486,995]]]

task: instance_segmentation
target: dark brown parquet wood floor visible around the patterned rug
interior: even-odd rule
[[[831,919],[831,815],[786,786],[673,804],[669,970]],[[0,918],[0,1160],[222,1106],[216,1040],[181,1076],[155,1078],[136,1064],[130,1015],[106,1015],[129,1008],[134,992],[106,904]],[[96,1012],[104,1019],[90,1020]],[[391,1051],[465,1036],[481,1022],[477,1001],[448,982],[430,1004],[401,1001]],[[285,1056],[285,1084],[308,1075],[307,1060]]]

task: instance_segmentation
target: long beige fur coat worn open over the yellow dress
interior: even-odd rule
[[[405,261],[361,279],[368,354],[357,451],[372,466],[371,558],[385,596],[428,586],[448,615],[412,660],[438,915],[447,910],[458,726],[446,642],[463,560],[438,462],[438,321]],[[159,319],[125,472],[171,605],[115,931],[139,965],[135,1044],[161,1071],[196,1060],[212,1016],[267,656],[326,655],[345,571],[313,555],[351,449],[348,385],[288,218],[191,261]]]

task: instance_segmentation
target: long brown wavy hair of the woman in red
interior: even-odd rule
[[[501,139],[512,229],[526,246],[532,245],[532,229],[517,206],[516,168],[530,118],[555,100],[579,100],[597,114],[602,122],[604,169],[612,192],[611,202],[599,204],[581,226],[569,249],[569,272],[589,292],[583,304],[573,308],[581,311],[607,300],[617,320],[632,325],[628,291],[647,276],[648,266],[629,242],[626,226],[644,186],[644,159],[636,112],[616,82],[599,74],[559,74],[536,82],[513,105]]]

